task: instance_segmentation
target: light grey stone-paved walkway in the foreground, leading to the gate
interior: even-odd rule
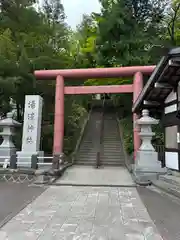
[[[136,188],[90,186],[49,187],[1,228],[0,239],[162,240]]]

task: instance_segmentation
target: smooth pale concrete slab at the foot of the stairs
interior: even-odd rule
[[[56,184],[89,186],[135,186],[125,167],[73,166],[69,168]]]

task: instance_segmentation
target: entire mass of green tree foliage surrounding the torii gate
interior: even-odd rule
[[[55,82],[36,81],[35,69],[156,64],[160,58],[160,52],[153,51],[156,46],[180,45],[178,0],[100,0],[100,3],[100,13],[84,15],[73,31],[66,23],[60,0],[44,0],[38,7],[36,0],[0,0],[0,115],[11,110],[13,100],[17,119],[22,121],[25,95],[40,94],[46,106],[43,111],[46,151],[52,147]],[[67,85],[129,83],[130,78],[66,81]],[[116,94],[113,100],[123,116],[131,114],[131,95]],[[86,97],[65,98],[66,146],[72,145],[86,104]]]

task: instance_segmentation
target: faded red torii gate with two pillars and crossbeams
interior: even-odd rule
[[[37,79],[52,80],[56,78],[55,117],[54,117],[54,142],[53,153],[58,155],[63,152],[64,141],[64,94],[97,94],[97,93],[133,93],[133,102],[136,101],[143,89],[143,75],[150,75],[155,66],[134,66],[116,68],[91,68],[91,69],[63,69],[63,70],[37,70],[34,72]],[[85,78],[115,78],[133,76],[133,84],[108,85],[108,86],[64,86],[64,79]],[[133,114],[135,123],[138,116]],[[134,124],[134,156],[140,147],[138,128]]]

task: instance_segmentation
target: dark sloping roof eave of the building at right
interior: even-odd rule
[[[138,99],[133,105],[133,112],[142,109],[162,111],[166,97],[178,85],[180,81],[180,47],[170,50],[162,57],[148,82],[144,86]]]

